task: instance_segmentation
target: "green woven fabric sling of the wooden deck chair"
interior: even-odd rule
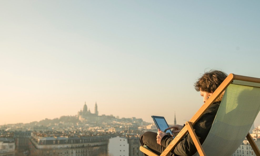
[[[232,155],[246,138],[259,110],[259,83],[234,80],[229,84],[202,144],[206,155]],[[194,155],[199,156],[198,152]]]

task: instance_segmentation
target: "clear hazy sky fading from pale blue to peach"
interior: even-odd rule
[[[85,102],[183,124],[203,104],[204,71],[260,78],[259,17],[259,1],[0,1],[0,125]]]

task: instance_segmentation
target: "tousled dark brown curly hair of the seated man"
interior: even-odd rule
[[[205,72],[201,78],[195,82],[194,87],[197,91],[214,92],[228,75],[222,71],[210,70]]]

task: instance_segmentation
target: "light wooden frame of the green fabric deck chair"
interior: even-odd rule
[[[254,77],[247,77],[247,76],[241,76],[241,75],[235,75],[235,74],[229,74],[228,77],[219,85],[219,87],[215,90],[215,92],[211,95],[211,97],[202,105],[202,107],[193,115],[193,117],[186,122],[186,126],[183,127],[181,132],[178,133],[178,135],[172,140],[172,142],[168,145],[168,147],[162,152],[160,156],[166,156],[168,155],[174,147],[181,141],[181,139],[184,137],[184,135],[189,132],[191,135],[191,138],[198,150],[198,153],[200,156],[206,156],[201,143],[198,140],[197,135],[194,132],[193,125],[198,121],[198,119],[206,112],[206,110],[214,103],[214,101],[219,97],[219,95],[228,87],[229,84],[233,82],[233,80],[242,80],[247,82],[255,82],[260,83],[260,78],[254,78]],[[260,151],[258,147],[256,146],[256,143],[254,142],[253,138],[251,137],[250,133],[246,136],[249,144],[253,148],[254,152],[257,156],[260,156]],[[140,146],[140,150],[149,155],[149,156],[158,156],[157,154],[153,153],[151,150],[146,149],[142,146]]]

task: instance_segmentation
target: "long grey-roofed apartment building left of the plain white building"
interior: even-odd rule
[[[40,137],[30,138],[30,155],[37,156],[99,156],[107,154],[110,136]]]

